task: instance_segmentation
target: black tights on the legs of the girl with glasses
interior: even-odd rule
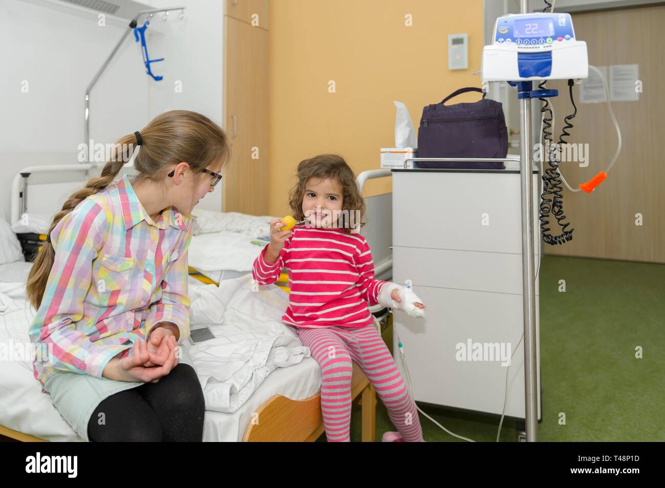
[[[156,383],[103,400],[88,421],[88,438],[92,442],[201,442],[204,414],[199,378],[192,366],[181,363]]]

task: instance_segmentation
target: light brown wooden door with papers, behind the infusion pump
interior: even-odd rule
[[[612,102],[622,134],[620,156],[593,193],[573,193],[564,187],[563,208],[575,229],[573,240],[563,246],[543,244],[543,252],[665,262],[665,165],[659,146],[665,119],[665,63],[660,41],[665,5],[575,13],[573,23],[577,39],[587,42],[589,64],[638,64],[643,92],[636,102]],[[565,80],[548,82],[547,88],[559,89],[559,97],[551,99],[558,139],[563,118],[573,113],[573,106]],[[589,165],[562,163],[563,176],[573,188],[605,171],[617,142],[607,104],[582,104],[579,88],[573,87],[577,116],[571,121],[574,127],[568,141],[589,143]],[[540,117],[537,111],[533,114]],[[642,216],[641,226],[636,225],[636,214]],[[553,231],[559,234],[558,226]]]

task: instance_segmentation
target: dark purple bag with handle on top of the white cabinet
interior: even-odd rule
[[[454,96],[480,92],[472,104],[444,105]],[[501,102],[485,100],[480,88],[460,88],[440,104],[423,108],[418,157],[499,157],[508,153],[508,131]],[[505,169],[503,161],[418,161],[421,168]]]

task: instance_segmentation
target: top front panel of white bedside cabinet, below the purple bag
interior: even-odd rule
[[[533,175],[534,195],[537,178]],[[536,236],[538,201],[533,203]],[[393,171],[392,216],[393,246],[522,252],[519,173]]]

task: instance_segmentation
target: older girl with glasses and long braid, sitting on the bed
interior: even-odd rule
[[[114,183],[134,147],[136,177]],[[201,441],[192,361],[191,212],[229,156],[219,125],[174,110],[118,141],[100,177],[55,215],[27,282],[29,333],[50,351],[34,372],[84,440]]]

